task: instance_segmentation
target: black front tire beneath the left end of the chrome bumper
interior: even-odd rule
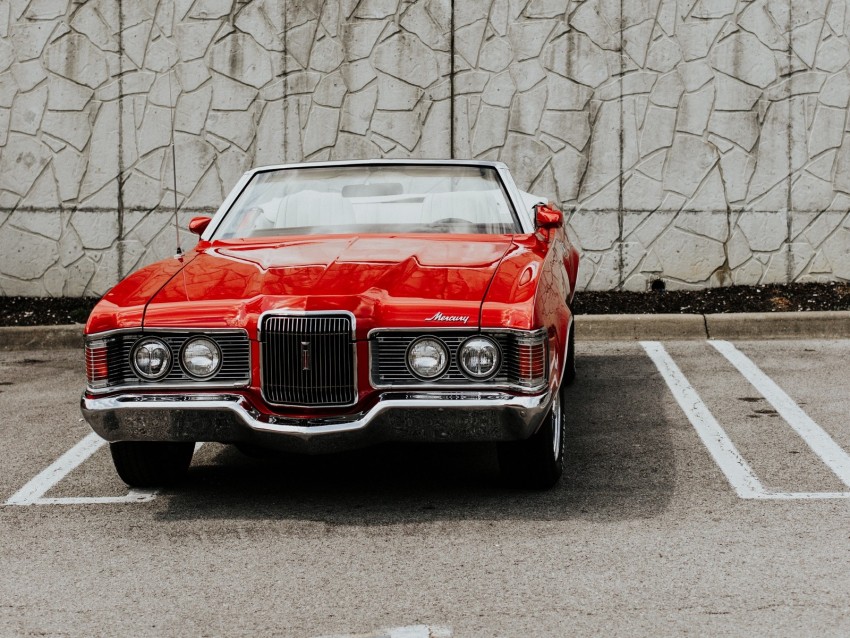
[[[130,487],[161,487],[186,475],[195,444],[188,442],[120,441],[110,443],[118,476]]]

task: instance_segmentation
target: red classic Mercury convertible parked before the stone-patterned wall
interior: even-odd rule
[[[575,376],[562,226],[498,162],[251,170],[192,250],[97,304],[83,415],[137,487],[199,441],[497,441],[510,482],[550,487]]]

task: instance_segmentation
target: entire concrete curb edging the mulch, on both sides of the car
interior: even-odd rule
[[[847,339],[850,311],[578,315],[578,341]],[[0,351],[83,347],[83,325],[0,327]]]

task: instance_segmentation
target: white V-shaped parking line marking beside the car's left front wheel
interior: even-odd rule
[[[6,505],[82,505],[87,503],[144,503],[156,495],[156,491],[130,490],[125,496],[80,496],[44,498],[59,481],[79,467],[106,443],[92,432],[70,450],[44,468],[29,483],[15,492]]]

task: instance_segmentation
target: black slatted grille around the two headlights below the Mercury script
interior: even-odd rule
[[[499,344],[502,351],[502,364],[496,376],[486,381],[472,381],[463,372],[457,362],[457,352],[460,344],[477,332],[439,332],[431,336],[440,339],[449,349],[451,362],[445,374],[435,381],[423,382],[417,379],[407,368],[407,349],[423,333],[382,332],[373,336],[372,348],[372,379],[379,386],[421,386],[423,384],[436,386],[469,386],[509,385],[519,377],[519,368],[514,347],[514,337],[509,333],[487,335]]]

